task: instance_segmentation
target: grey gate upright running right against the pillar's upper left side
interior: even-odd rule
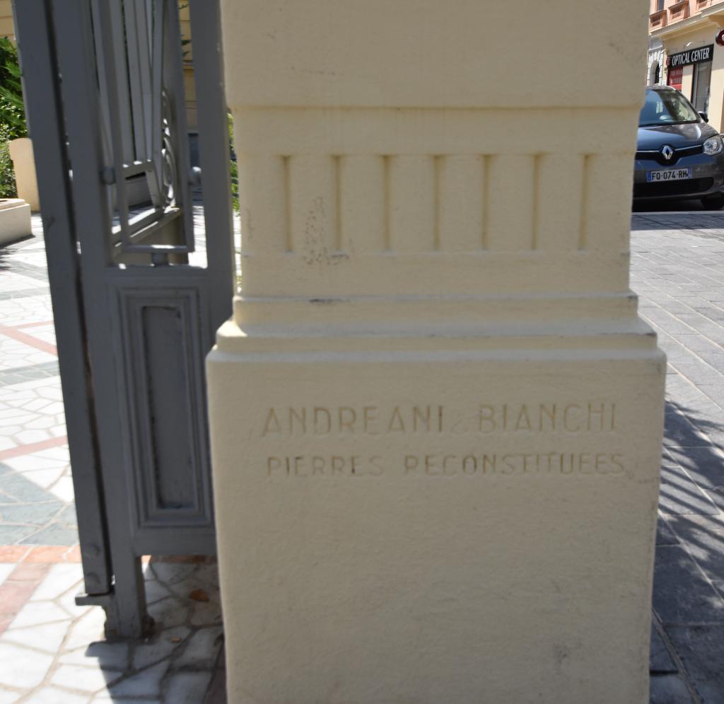
[[[190,0],[198,139],[212,329],[228,319],[235,291],[229,133],[219,0]]]

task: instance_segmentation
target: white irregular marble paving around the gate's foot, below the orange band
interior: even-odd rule
[[[56,556],[46,553],[0,563],[0,603],[15,611],[0,621],[0,704],[205,699],[223,638],[213,562],[152,559],[145,572],[153,636],[105,642],[103,611],[75,605],[77,554],[49,563]]]

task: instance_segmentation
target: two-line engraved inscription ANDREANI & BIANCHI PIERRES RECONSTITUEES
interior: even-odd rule
[[[609,436],[618,429],[615,403],[560,401],[550,403],[479,403],[474,408],[441,404],[397,406],[285,406],[264,411],[259,435],[284,443],[266,458],[268,477],[508,477],[515,475],[615,476],[626,472],[616,451],[565,451],[565,437]],[[545,443],[528,451],[501,452],[497,437],[519,435],[521,445]],[[405,450],[369,454],[326,449],[325,440],[360,436],[426,438],[419,453]],[[436,437],[460,437],[460,451],[434,451]],[[294,453],[288,440],[319,439],[319,451]],[[553,439],[555,438],[555,439]],[[526,439],[528,442],[526,443]],[[430,441],[433,441],[432,443]],[[475,442],[471,442],[475,440]],[[600,443],[597,443],[599,445]],[[551,446],[552,445],[552,446]]]

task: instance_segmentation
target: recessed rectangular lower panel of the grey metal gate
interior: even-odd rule
[[[165,273],[165,272],[164,272]],[[164,277],[174,280],[176,277]],[[168,283],[171,283],[169,281]],[[211,348],[203,281],[151,288],[117,277],[116,345],[122,350],[125,432],[138,506],[135,531],[213,526],[203,359]],[[213,552],[213,534],[208,550]]]

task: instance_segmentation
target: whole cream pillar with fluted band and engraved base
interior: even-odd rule
[[[646,703],[665,359],[628,288],[645,4],[223,6],[230,702]]]

